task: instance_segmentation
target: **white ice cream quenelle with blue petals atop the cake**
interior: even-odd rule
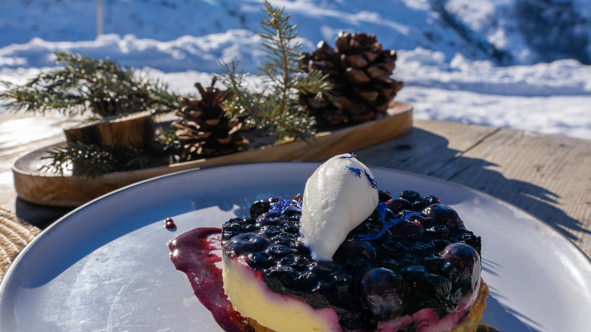
[[[301,203],[300,230],[312,258],[332,261],[349,232],[377,206],[374,175],[352,154],[320,165],[306,182]]]

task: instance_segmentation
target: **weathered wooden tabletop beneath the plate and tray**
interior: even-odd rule
[[[7,125],[9,119],[15,121],[0,115],[0,206],[43,227],[69,209],[16,198],[10,164],[22,152],[63,140],[59,128],[71,122],[59,116],[18,115],[20,123]],[[28,123],[51,135],[24,138],[19,144],[2,139],[31,131]],[[368,165],[430,175],[499,197],[551,224],[591,255],[591,141],[417,120],[408,134],[355,153]]]

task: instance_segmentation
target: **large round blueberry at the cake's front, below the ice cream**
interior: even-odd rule
[[[369,270],[361,278],[359,287],[363,302],[382,320],[397,317],[408,303],[408,285],[389,269]]]

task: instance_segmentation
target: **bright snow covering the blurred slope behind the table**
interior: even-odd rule
[[[393,77],[405,82],[397,99],[413,103],[417,119],[591,139],[591,66],[582,64],[591,58],[591,0],[272,2],[300,25],[305,50],[333,44],[339,30],[373,32],[397,50]],[[535,15],[518,15],[542,3]],[[220,60],[256,71],[264,56],[256,0],[106,1],[106,34],[98,38],[94,1],[0,6],[0,80],[14,83],[51,69],[51,53],[69,50],[114,58],[194,93],[193,83],[209,83]],[[548,13],[558,13],[560,30],[535,21]],[[540,34],[527,30],[532,23]]]

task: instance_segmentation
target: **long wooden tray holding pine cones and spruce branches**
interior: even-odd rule
[[[388,115],[360,125],[320,132],[311,145],[302,141],[250,149],[220,157],[180,162],[143,170],[113,172],[92,180],[72,174],[51,174],[40,171],[41,157],[46,151],[64,143],[50,145],[18,158],[12,165],[14,185],[18,197],[25,201],[49,206],[80,206],[126,185],[193,168],[242,164],[264,161],[320,161],[336,154],[387,141],[404,134],[413,126],[413,107],[408,103],[393,102]]]

